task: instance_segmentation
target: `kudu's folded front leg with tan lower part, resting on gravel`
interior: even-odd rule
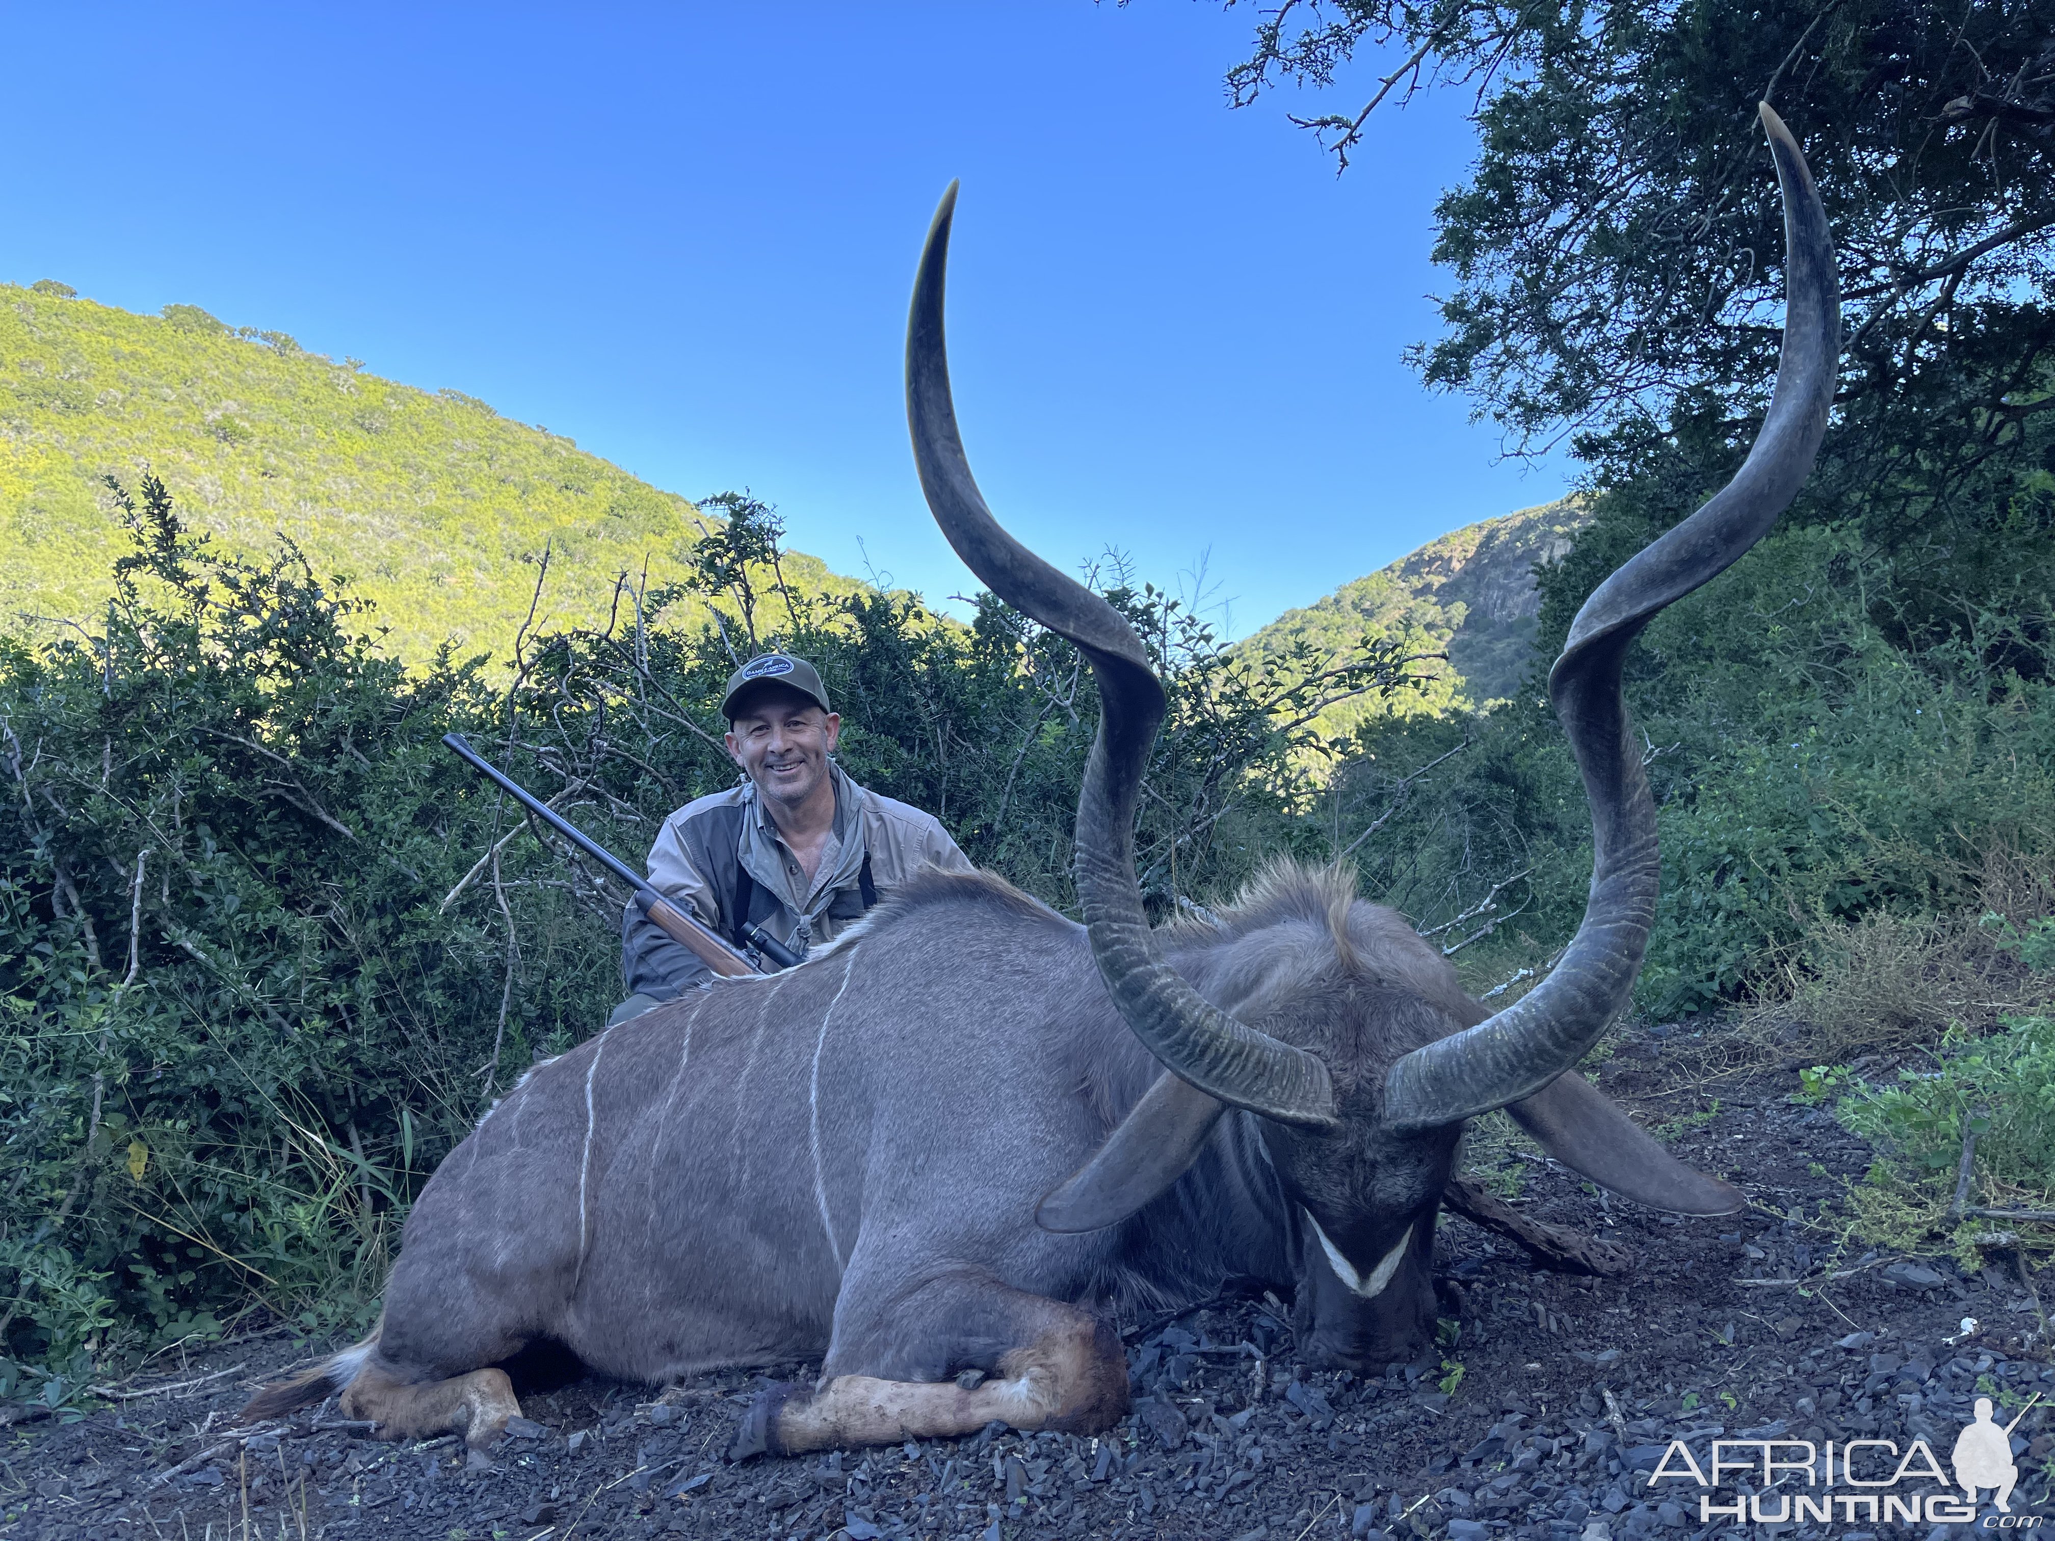
[[[732,1461],[956,1438],[993,1422],[1093,1434],[1128,1412],[1126,1352],[1089,1311],[995,1280],[947,1278],[900,1294],[888,1315],[863,1315],[836,1311],[836,1346],[814,1387],[756,1397]],[[964,1373],[939,1379],[951,1370]]]

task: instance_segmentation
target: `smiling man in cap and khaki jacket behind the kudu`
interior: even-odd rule
[[[721,699],[740,787],[686,803],[649,847],[649,884],[748,951],[762,927],[801,957],[859,920],[921,867],[970,871],[933,814],[843,775],[843,719],[812,664],[764,653],[727,676]],[[608,1023],[707,984],[713,974],[629,904],[621,927],[629,999]]]

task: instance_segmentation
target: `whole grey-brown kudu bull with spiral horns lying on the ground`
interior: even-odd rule
[[[1097,1430],[1128,1405],[1108,1313],[1198,1303],[1229,1276],[1295,1294],[1313,1362],[1416,1358],[1434,1216],[1475,1114],[1506,1107],[1615,1194],[1739,1208],[1572,1066],[1626,1003],[1656,900],[1621,660],[1773,524],[1827,425],[1833,251],[1798,146],[1767,107],[1763,123],[1788,249],[1776,397],[1734,481],[1591,596],[1556,662],[1597,863],[1533,992],[1486,1013],[1397,914],[1291,867],[1219,920],[1149,929],[1132,822],[1163,690],[1128,625],[972,483],[941,325],[951,189],[912,298],[914,456],[962,559],[1097,676],[1085,925],[999,877],[931,873],[801,968],[715,980],[536,1066],[421,1192],[378,1331],[251,1412],[341,1391],[388,1438],[485,1446],[518,1412],[495,1366],[551,1340],[645,1383],[822,1356],[818,1383],[758,1397],[738,1453],[991,1420]]]

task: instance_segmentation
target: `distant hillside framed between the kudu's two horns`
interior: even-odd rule
[[[1344,584],[1317,604],[1286,610],[1243,647],[1284,653],[1295,641],[1346,647],[1365,629],[1414,637],[1447,651],[1445,678],[1424,697],[1397,697],[1412,709],[1484,707],[1512,694],[1529,664],[1541,608],[1533,565],[1570,549],[1584,524],[1570,499],[1504,514],[1428,540],[1410,557]],[[1342,734],[1379,707],[1350,701],[1332,707],[1321,725]]]

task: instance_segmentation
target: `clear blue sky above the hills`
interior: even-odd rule
[[[929,598],[970,577],[900,351],[951,177],[964,436],[1058,565],[1204,559],[1243,633],[1566,485],[1399,362],[1449,281],[1426,253],[1465,99],[1379,109],[1336,179],[1284,119],[1305,101],[1227,109],[1249,6],[0,14],[0,277],[199,304],[672,491],[748,487],[791,544]]]

